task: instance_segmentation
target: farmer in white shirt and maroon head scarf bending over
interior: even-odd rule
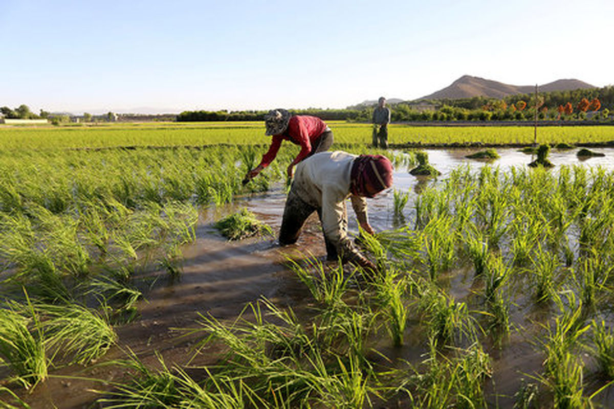
[[[279,244],[295,243],[303,223],[313,212],[320,216],[328,260],[353,262],[376,271],[348,237],[345,199],[350,197],[362,229],[374,234],[367,220],[367,201],[392,186],[392,164],[386,156],[351,155],[343,151],[322,152],[305,159],[288,193]]]

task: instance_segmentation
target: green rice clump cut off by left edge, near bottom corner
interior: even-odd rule
[[[49,360],[45,350],[41,321],[33,306],[21,308],[16,303],[2,306],[0,314],[0,364],[16,375],[14,381],[33,388],[47,378]],[[22,315],[27,313],[28,316]]]

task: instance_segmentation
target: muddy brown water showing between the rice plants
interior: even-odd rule
[[[479,170],[484,166],[484,161],[465,159],[466,155],[475,151],[427,150],[430,164],[442,173],[437,180],[413,177],[408,174],[407,169],[396,170],[395,188],[410,193],[410,201],[404,212],[406,223],[413,223],[412,204],[424,186],[441,183],[449,172],[460,164],[467,163],[472,170]],[[595,149],[594,151],[605,153],[606,156],[587,161],[579,161],[575,156],[576,151],[553,150],[550,160],[555,165],[599,165],[608,170],[614,169],[612,149]],[[501,158],[491,164],[499,166],[504,172],[512,166],[526,166],[534,159],[531,155],[515,149],[499,149],[498,152]],[[324,240],[316,215],[309,218],[298,243],[284,248],[276,245],[274,237],[248,239],[238,243],[227,242],[212,227],[212,222],[235,212],[238,208],[247,207],[256,213],[260,220],[268,223],[274,232],[278,232],[285,197],[283,189],[277,187],[266,194],[240,197],[234,204],[225,207],[203,210],[195,243],[183,249],[181,277],[169,281],[163,272],[150,272],[150,277],[157,279],[147,291],[146,300],[141,302],[140,318],[135,323],[117,329],[119,346],[109,351],[104,359],[123,357],[125,351],[130,348],[149,365],[159,365],[153,351],[158,351],[163,356],[168,367],[173,364],[185,365],[193,358],[193,347],[203,338],[203,334],[185,335],[183,329],[197,327],[195,321],[198,320],[199,313],[210,314],[220,320],[232,319],[247,303],[260,297],[266,297],[279,305],[290,305],[298,311],[306,308],[309,302],[308,291],[293,273],[284,267],[284,260],[287,256],[297,257],[308,253],[324,258]],[[368,199],[370,223],[376,231],[391,229],[398,223],[392,218],[392,197],[392,191],[387,191],[374,199]],[[356,233],[356,221],[352,218],[351,210],[349,213],[349,229]],[[467,276],[459,272],[449,281],[451,292],[459,299],[470,297],[473,283]],[[522,307],[512,307],[511,316],[513,322],[526,326],[527,329],[530,329],[531,325],[528,318],[536,317]],[[424,350],[419,343],[413,341],[418,339],[414,332],[415,326],[410,326],[406,334],[408,345],[405,349],[390,348],[386,342],[378,342],[378,346],[381,344],[381,351],[389,357],[416,362]],[[214,347],[208,348],[203,350],[203,354],[192,361],[192,364],[214,361],[219,351]],[[511,407],[511,396],[518,391],[519,378],[524,377],[520,374],[539,372],[543,357],[535,352],[535,348],[527,340],[527,335],[518,332],[507,340],[505,348],[492,348],[488,352],[493,357],[494,369],[491,383],[487,386],[493,396],[491,403],[500,407]],[[115,367],[70,367],[56,370],[53,375],[49,381],[37,386],[32,394],[23,394],[23,398],[33,408],[91,407],[97,395],[90,389],[108,390],[111,386],[68,376],[111,381],[122,380],[124,373]]]

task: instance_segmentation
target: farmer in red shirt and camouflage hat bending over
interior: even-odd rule
[[[256,177],[267,167],[279,150],[282,140],[300,145],[301,151],[290,162],[287,174],[292,178],[294,166],[314,153],[324,152],[333,143],[333,132],[320,118],[309,115],[290,115],[285,109],[273,109],[265,115],[265,135],[273,136],[271,147],[262,156],[260,164],[246,175],[246,180]]]

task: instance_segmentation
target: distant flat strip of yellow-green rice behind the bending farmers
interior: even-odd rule
[[[327,121],[335,131],[335,144],[367,145],[370,142],[371,124]],[[437,143],[524,143],[534,142],[533,129],[527,126],[412,126],[391,124],[391,132],[399,142],[415,140],[422,144]],[[365,135],[367,137],[365,137]],[[404,136],[404,137],[403,137]],[[607,126],[564,126],[540,128],[540,139],[548,143],[607,142],[614,139],[614,132]],[[134,147],[134,151],[146,147],[200,147],[217,148],[228,144],[244,146],[265,145],[270,138],[263,132],[262,121],[241,122],[185,122],[143,124],[96,124],[49,128],[0,128],[2,150],[66,150],[66,148],[117,148]]]

